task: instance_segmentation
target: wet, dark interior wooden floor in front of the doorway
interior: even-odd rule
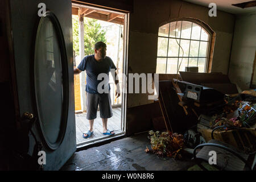
[[[175,160],[146,153],[148,133],[75,152],[61,171],[177,171],[195,165],[191,158]],[[97,177],[97,176],[94,176]],[[94,179],[95,180],[95,179]]]

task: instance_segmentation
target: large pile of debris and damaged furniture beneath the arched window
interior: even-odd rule
[[[150,131],[152,150],[147,147],[146,152],[177,159],[189,154],[208,162],[209,151],[216,151],[217,166],[227,170],[244,169],[240,159],[245,156],[251,155],[253,163],[256,89],[238,93],[222,73],[179,72],[159,75],[158,98],[164,126],[173,133]]]

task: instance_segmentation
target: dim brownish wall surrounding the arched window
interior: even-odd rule
[[[233,14],[217,11],[217,17],[208,16],[208,7],[183,1],[134,1],[129,27],[129,73],[155,73],[158,49],[158,28],[179,17],[200,19],[216,32],[212,72],[228,73],[232,36]],[[128,94],[127,107],[152,103],[147,94]]]

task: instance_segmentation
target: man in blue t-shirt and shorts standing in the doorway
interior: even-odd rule
[[[90,129],[82,135],[84,138],[89,138],[93,134],[93,122],[94,119],[97,118],[98,105],[100,106],[100,117],[103,125],[102,134],[115,134],[114,131],[110,131],[107,128],[108,118],[113,116],[110,94],[109,92],[99,93],[97,89],[98,84],[101,82],[101,80],[98,80],[98,75],[105,73],[109,78],[110,69],[116,70],[117,68],[112,59],[106,56],[106,44],[104,42],[97,42],[94,46],[94,55],[85,56],[79,66],[74,69],[74,74],[86,71],[86,119],[89,120]],[[117,86],[115,96],[119,97],[119,84],[118,79],[115,79],[116,77],[117,72],[115,71],[114,80]],[[109,79],[107,81],[109,81]],[[108,88],[104,88],[104,90],[110,90],[109,82],[103,86],[108,86]]]

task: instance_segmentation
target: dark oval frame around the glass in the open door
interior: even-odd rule
[[[60,131],[57,137],[56,142],[50,142],[47,137],[46,133],[43,129],[43,123],[40,119],[40,114],[38,110],[38,98],[36,96],[36,87],[35,87],[35,51],[36,45],[38,41],[38,36],[40,34],[40,28],[42,27],[43,20],[45,18],[49,18],[53,24],[53,28],[55,28],[56,35],[57,35],[57,42],[60,48],[60,57],[61,57],[61,69],[62,69],[62,80],[63,80],[63,107],[61,111],[61,122],[60,122]],[[56,150],[59,148],[60,144],[63,142],[65,131],[67,129],[67,121],[68,121],[68,107],[69,107],[69,78],[68,78],[68,59],[67,59],[67,52],[65,48],[65,40],[63,36],[63,32],[61,30],[61,26],[57,16],[53,14],[51,11],[46,11],[46,13],[38,19],[38,23],[36,23],[35,32],[33,43],[34,47],[32,47],[32,61],[31,61],[31,84],[32,84],[32,96],[33,96],[33,103],[34,103],[34,113],[36,115],[36,126],[38,127],[38,131],[40,134],[40,138],[42,139],[43,146],[48,148],[49,150]]]

